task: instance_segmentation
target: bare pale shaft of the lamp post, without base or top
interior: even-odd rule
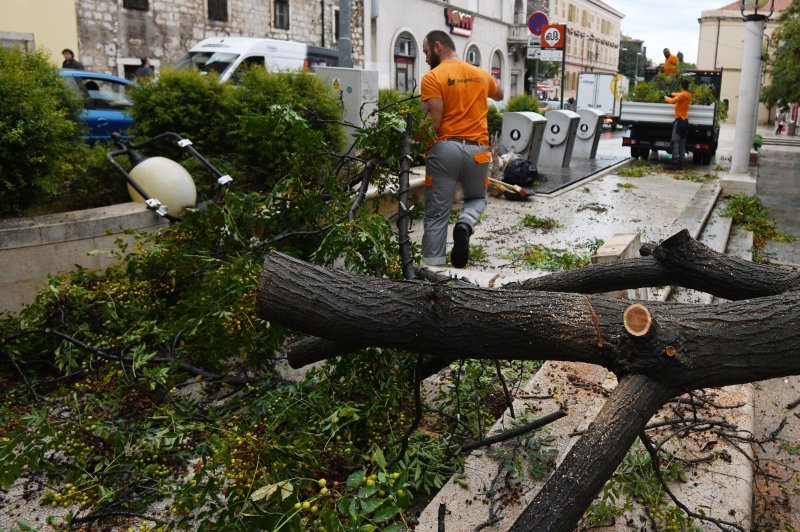
[[[750,149],[756,130],[759,76],[761,73],[761,39],[766,17],[751,15],[744,25],[742,73],[739,79],[739,104],[736,107],[736,130],[733,134],[732,174],[748,174]]]

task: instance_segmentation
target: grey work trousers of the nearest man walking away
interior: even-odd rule
[[[486,181],[491,161],[488,151],[485,146],[456,140],[437,142],[428,150],[425,161],[425,232],[422,235],[422,260],[425,264],[447,264],[447,226],[457,183],[461,183],[464,192],[464,208],[456,223],[465,223],[472,231],[486,209]]]

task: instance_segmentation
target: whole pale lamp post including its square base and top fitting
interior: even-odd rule
[[[767,7],[769,12],[767,12]],[[731,174],[743,187],[732,192],[755,194],[755,181],[750,178],[750,149],[756,132],[758,97],[761,76],[761,40],[767,19],[775,10],[775,0],[741,0],[740,12],[744,18],[744,48],[742,71],[739,79],[739,104],[736,107],[736,129],[733,137]]]

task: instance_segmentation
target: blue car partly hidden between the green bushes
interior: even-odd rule
[[[69,87],[83,98],[81,119],[89,129],[85,138],[94,143],[110,140],[118,132],[126,136],[131,127],[130,91],[135,86],[131,81],[117,76],[87,72],[85,70],[60,70]]]

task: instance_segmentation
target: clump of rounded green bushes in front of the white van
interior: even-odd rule
[[[233,86],[213,74],[166,70],[133,93],[131,112],[138,135],[185,136],[237,175],[237,186],[253,190],[269,190],[297,175],[305,186],[318,187],[330,170],[319,154],[338,152],[344,141],[335,123],[341,120],[337,102],[318,77],[305,72],[254,68]]]

